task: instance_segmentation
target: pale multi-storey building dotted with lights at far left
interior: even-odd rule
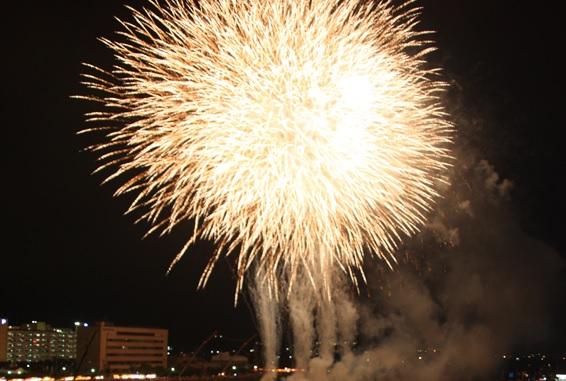
[[[0,361],[41,362],[75,359],[76,332],[69,328],[53,328],[44,322],[33,321],[20,326],[0,321]]]

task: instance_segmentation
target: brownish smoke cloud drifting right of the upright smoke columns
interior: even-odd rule
[[[485,160],[459,159],[428,229],[404,248],[399,271],[380,272],[377,302],[361,309],[361,347],[374,348],[361,356],[381,364],[380,379],[487,377],[503,354],[536,348],[558,323],[546,294],[563,281],[563,259],[522,232],[511,182]]]

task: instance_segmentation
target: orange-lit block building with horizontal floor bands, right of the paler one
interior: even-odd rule
[[[98,323],[77,330],[77,361],[82,372],[120,372],[167,366],[166,329]]]

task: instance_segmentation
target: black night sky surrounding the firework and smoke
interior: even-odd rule
[[[19,1],[3,5],[2,126],[4,249],[0,315],[14,323],[107,319],[171,330],[191,348],[214,329],[244,339],[254,332],[246,303],[234,311],[233,279],[221,263],[195,291],[210,247],[197,245],[169,276],[183,227],[164,239],[141,240],[146,226],[123,216],[127,199],[92,176],[95,157],[77,136],[90,105],[81,62],[102,67],[111,54],[96,40],[141,1]],[[434,60],[461,88],[470,118],[485,125],[475,149],[515,184],[521,228],[566,254],[563,232],[564,41],[555,2],[421,0],[423,28],[438,33]],[[556,2],[558,4],[558,2]],[[564,274],[566,277],[566,274]],[[564,298],[565,290],[547,290]],[[566,311],[562,310],[564,316]],[[563,332],[563,331],[562,331]],[[565,338],[566,339],[566,338]]]

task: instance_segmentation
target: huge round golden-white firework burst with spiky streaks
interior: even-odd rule
[[[358,0],[151,0],[111,70],[89,66],[94,145],[150,232],[190,220],[277,294],[297,274],[330,295],[367,255],[390,263],[449,166],[445,85],[419,10]]]

